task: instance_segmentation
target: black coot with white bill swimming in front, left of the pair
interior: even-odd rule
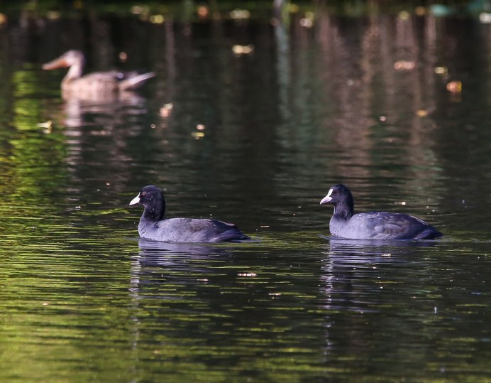
[[[165,198],[156,186],[145,186],[131,200],[145,207],[138,224],[140,237],[164,242],[233,242],[250,239],[236,225],[218,220],[164,218]]]

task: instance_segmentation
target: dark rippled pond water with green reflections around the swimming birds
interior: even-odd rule
[[[2,382],[490,381],[491,25],[315,12],[0,29]],[[156,77],[62,99],[70,48]],[[329,239],[339,182],[444,237]],[[139,239],[148,184],[253,241]]]

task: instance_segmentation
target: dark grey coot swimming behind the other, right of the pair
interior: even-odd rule
[[[329,189],[321,205],[334,205],[329,222],[333,237],[348,239],[434,239],[441,237],[434,227],[424,220],[399,212],[361,212],[354,214],[353,195],[339,183]]]

